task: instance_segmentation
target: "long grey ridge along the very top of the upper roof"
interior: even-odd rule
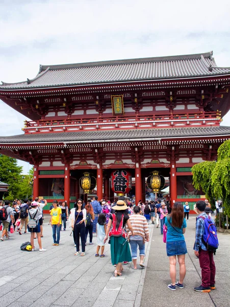
[[[163,62],[163,61],[174,61],[174,60],[185,60],[185,59],[200,59],[201,56],[204,58],[212,59],[213,52],[187,54],[187,55],[172,55],[172,56],[161,56],[161,57],[147,57],[147,58],[134,58],[134,59],[123,59],[123,60],[108,60],[108,61],[97,61],[97,62],[84,62],[84,63],[70,63],[70,64],[55,64],[55,65],[41,65],[39,73],[49,68],[50,70],[58,69],[71,69],[81,67],[92,67],[92,66],[105,66],[105,65],[120,65],[120,64],[132,64],[132,63],[144,63],[144,62]]]

